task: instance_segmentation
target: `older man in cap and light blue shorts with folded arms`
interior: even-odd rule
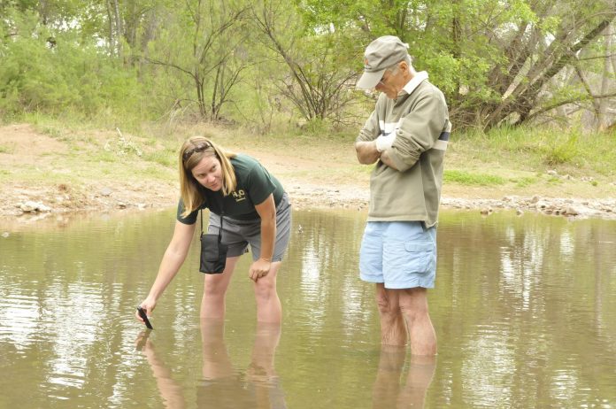
[[[435,355],[427,289],[436,275],[436,223],[443,157],[450,135],[443,92],[416,72],[408,45],[385,35],[366,48],[358,89],[381,95],[355,149],[359,163],[376,162],[361,243],[361,279],[376,284],[381,343],[414,355]]]

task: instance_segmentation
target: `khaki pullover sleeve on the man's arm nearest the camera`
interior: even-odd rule
[[[420,96],[404,116],[396,140],[388,151],[389,158],[400,172],[410,169],[421,153],[431,149],[447,122],[447,106],[435,89]]]

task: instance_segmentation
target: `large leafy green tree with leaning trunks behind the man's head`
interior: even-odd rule
[[[553,80],[597,42],[610,0],[302,0],[316,26],[333,22],[367,44],[379,35],[410,43],[414,65],[445,92],[458,126],[521,124],[566,104]],[[571,96],[572,89],[566,89]],[[600,96],[591,96],[600,97]],[[575,101],[575,99],[574,99]]]

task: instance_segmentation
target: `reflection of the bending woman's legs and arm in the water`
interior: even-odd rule
[[[250,366],[244,374],[231,363],[224,332],[222,321],[201,321],[203,376],[197,386],[196,407],[286,408],[273,365],[281,336],[280,324],[258,323]],[[142,339],[137,340],[137,343],[140,342]],[[146,339],[142,343],[142,351],[148,359],[166,407],[186,407],[181,387],[173,382],[171,371],[158,359],[154,345]]]

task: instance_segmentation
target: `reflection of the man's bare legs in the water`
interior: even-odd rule
[[[373,409],[424,407],[426,391],[435,374],[435,357],[412,355],[406,381],[401,385],[405,356],[404,347],[381,347],[379,370],[373,386]]]

